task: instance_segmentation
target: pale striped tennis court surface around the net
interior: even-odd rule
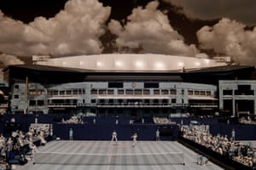
[[[111,141],[87,141],[87,140],[76,140],[70,142],[68,140],[55,140],[49,142],[44,146],[40,146],[38,148],[38,153],[58,153],[63,154],[62,157],[69,156],[64,163],[42,163],[35,161],[36,158],[33,157],[32,160],[28,161],[26,165],[20,166],[15,165],[15,169],[19,170],[108,170],[108,169],[122,169],[122,170],[191,170],[191,169],[223,169],[218,167],[209,161],[206,165],[198,165],[197,164],[197,156],[194,151],[189,150],[182,144],[177,143],[177,141],[137,141],[137,145],[133,147],[131,141],[119,141],[118,143],[112,143]],[[175,154],[183,153],[183,163],[160,163],[163,157],[162,154],[171,153],[170,161],[175,159]],[[70,155],[69,155],[70,154]],[[72,156],[75,154],[76,156]],[[88,164],[79,164],[72,163],[79,162],[79,160],[83,160],[84,154],[87,155],[86,159],[90,159],[88,162],[94,162]],[[88,157],[88,154],[91,155]],[[125,160],[117,161],[118,164],[104,164],[101,160],[96,160],[98,155],[102,156],[117,156],[117,159],[125,159],[125,156],[132,156],[132,162],[140,162],[142,160],[143,163],[120,163]],[[146,157],[146,156],[154,156],[154,157]],[[45,154],[42,157],[47,157],[48,154]],[[84,156],[85,157],[85,156]],[[61,159],[61,158],[55,158]],[[39,160],[40,161],[40,160]],[[56,160],[59,161],[59,160]],[[69,161],[71,163],[69,163]],[[168,160],[167,160],[168,161]],[[34,163],[36,162],[36,163]],[[55,162],[55,161],[53,161]]]

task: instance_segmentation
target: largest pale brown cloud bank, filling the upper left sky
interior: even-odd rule
[[[31,56],[100,54],[110,7],[96,0],[70,0],[49,20],[38,17],[29,24],[12,20],[0,11],[0,51]]]

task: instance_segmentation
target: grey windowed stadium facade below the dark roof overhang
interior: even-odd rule
[[[27,88],[26,88],[27,86]],[[15,83],[11,111],[84,116],[175,116],[218,111],[217,87],[189,82]]]

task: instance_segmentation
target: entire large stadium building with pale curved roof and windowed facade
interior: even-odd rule
[[[254,70],[212,59],[104,54],[11,65],[4,78],[12,113],[212,116],[226,108],[218,82],[249,79]]]

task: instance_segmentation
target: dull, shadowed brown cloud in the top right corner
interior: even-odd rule
[[[254,0],[164,0],[179,7],[189,18],[212,20],[230,18],[247,25],[256,24],[256,2]]]

